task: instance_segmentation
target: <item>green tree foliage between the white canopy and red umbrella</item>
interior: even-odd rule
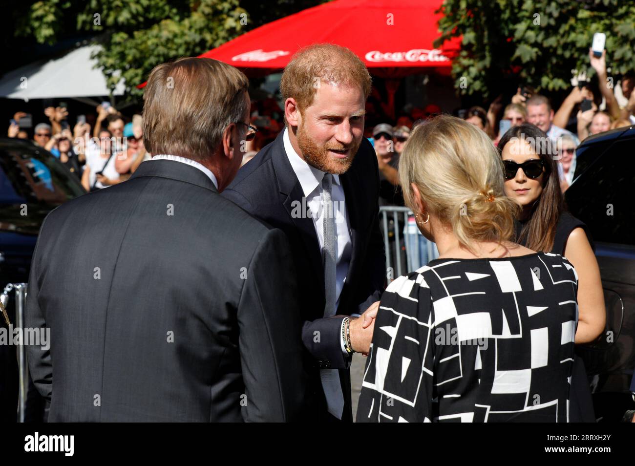
[[[243,17],[241,17],[243,14]],[[246,11],[238,0],[41,0],[17,33],[53,44],[74,15],[77,32],[91,32],[107,83],[126,79],[128,95],[142,95],[143,83],[159,63],[200,55],[243,32]]]

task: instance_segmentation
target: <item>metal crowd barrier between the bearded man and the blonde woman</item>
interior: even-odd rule
[[[382,215],[382,234],[384,236],[384,249],[386,253],[386,274],[390,283],[392,279],[395,279],[400,275],[405,275],[413,270],[417,270],[425,265],[425,263],[420,263],[421,246],[418,228],[416,225],[414,228],[410,228],[410,224],[408,222],[408,217],[414,215],[413,212],[407,207],[399,206],[381,206],[379,208],[379,212],[380,215]],[[392,241],[389,239],[389,218],[392,218]],[[403,226],[401,228],[399,225],[399,218],[403,218]],[[394,242],[394,244],[391,244],[391,242]],[[427,254],[425,256],[428,260],[436,258],[438,256],[438,252],[436,251],[434,243],[427,240],[425,243],[425,247],[427,248]],[[404,244],[406,250],[405,264],[401,263],[402,244]],[[405,269],[403,265],[405,265]],[[391,276],[391,274],[389,274],[389,270],[396,273],[393,273]]]

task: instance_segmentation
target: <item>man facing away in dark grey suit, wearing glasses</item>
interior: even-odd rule
[[[144,95],[157,155],[44,221],[25,319],[51,329],[50,351],[27,348],[50,421],[298,418],[288,242],[219,196],[243,159],[247,88],[216,60],[157,66]]]

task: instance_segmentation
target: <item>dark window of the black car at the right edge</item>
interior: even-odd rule
[[[603,150],[580,156],[586,169],[566,190],[566,201],[572,215],[589,226],[594,241],[635,244],[634,145],[632,138],[607,142]],[[587,164],[588,156],[599,159]]]

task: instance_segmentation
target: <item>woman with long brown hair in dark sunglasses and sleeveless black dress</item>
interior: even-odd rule
[[[575,343],[601,337],[606,310],[598,262],[586,225],[566,211],[551,140],[533,124],[513,126],[498,143],[505,194],[521,206],[516,242],[535,251],[565,256],[578,274]],[[570,422],[595,422],[584,363],[576,357],[570,394]]]

